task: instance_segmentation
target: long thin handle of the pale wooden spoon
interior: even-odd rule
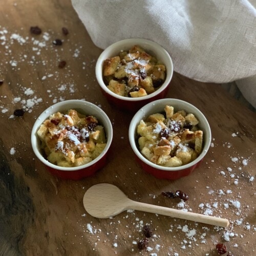
[[[195,221],[220,227],[227,227],[229,225],[229,221],[227,219],[222,219],[218,217],[207,216],[203,214],[196,214],[194,212],[189,211],[182,211],[173,208],[167,208],[163,206],[153,205],[153,204],[146,204],[141,202],[136,202],[131,200],[132,202],[130,207],[135,210],[152,212],[153,214],[160,214],[169,217]],[[130,209],[131,209],[130,208]]]

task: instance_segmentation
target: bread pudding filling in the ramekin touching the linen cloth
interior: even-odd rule
[[[166,68],[139,45],[103,62],[103,80],[109,90],[124,97],[142,97],[155,92],[166,78]]]

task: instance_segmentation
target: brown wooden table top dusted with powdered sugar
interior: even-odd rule
[[[42,33],[32,35],[31,26]],[[68,28],[68,35],[62,34],[62,27]],[[135,161],[128,140],[133,115],[113,108],[102,96],[94,72],[102,50],[91,41],[69,0],[1,1],[0,33],[1,255],[217,255],[217,243],[225,243],[233,255],[255,255],[255,113],[219,84],[175,73],[167,96],[188,101],[205,114],[212,145],[190,176],[160,180],[145,174]],[[52,44],[57,38],[63,40],[61,46]],[[61,60],[67,62],[63,69],[58,68]],[[68,99],[99,105],[113,123],[108,164],[80,181],[52,176],[30,144],[36,117],[54,102]],[[24,116],[13,117],[20,108],[26,109]],[[93,218],[82,198],[89,187],[102,182],[117,185],[135,201],[212,213],[229,219],[230,226],[139,211]],[[177,189],[189,195],[183,207],[178,206],[180,200],[161,195]],[[137,243],[146,224],[153,237],[148,249],[140,251]]]

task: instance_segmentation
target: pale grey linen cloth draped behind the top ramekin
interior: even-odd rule
[[[244,93],[250,94],[254,107],[255,3],[256,0],[72,0],[97,47],[105,49],[125,38],[145,38],[163,46],[173,59],[174,70],[189,78],[225,83],[252,77],[249,92]],[[251,99],[252,94],[255,97]]]

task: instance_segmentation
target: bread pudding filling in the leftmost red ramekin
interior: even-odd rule
[[[87,164],[104,150],[104,127],[94,116],[76,110],[54,113],[39,127],[37,135],[49,162],[74,167]]]

